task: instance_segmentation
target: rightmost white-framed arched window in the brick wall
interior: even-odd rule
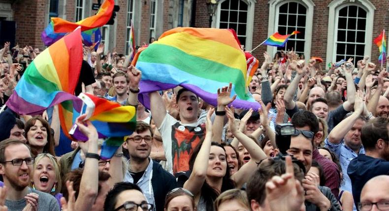
[[[368,0],[342,2],[333,0],[328,5],[327,62],[351,57],[356,64],[371,53],[372,34],[366,32],[373,30],[375,7]]]

